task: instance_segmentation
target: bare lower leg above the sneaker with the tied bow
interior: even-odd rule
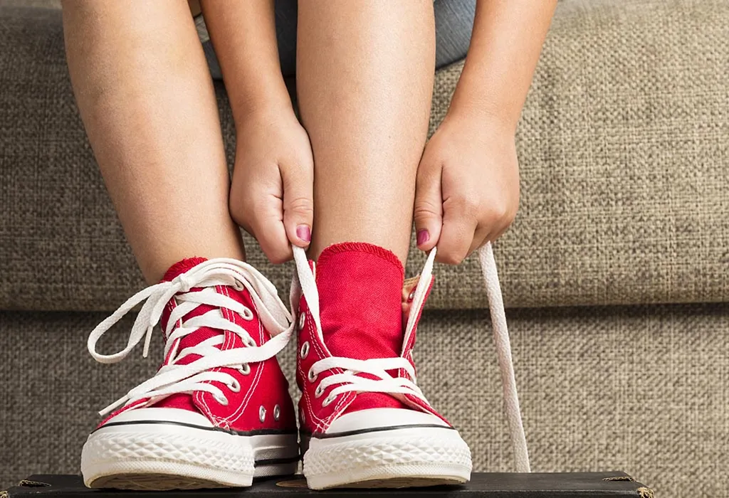
[[[69,70],[139,266],[243,258],[210,74],[184,0],[65,0]]]

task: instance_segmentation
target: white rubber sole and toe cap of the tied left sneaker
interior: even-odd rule
[[[135,490],[251,486],[296,472],[296,434],[235,435],[179,424],[125,424],[93,432],[81,453],[90,488]]]

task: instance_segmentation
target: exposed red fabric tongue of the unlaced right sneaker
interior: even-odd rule
[[[316,264],[324,344],[358,360],[402,352],[405,271],[391,251],[364,242],[332,245]]]

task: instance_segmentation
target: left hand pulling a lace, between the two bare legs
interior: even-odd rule
[[[311,143],[294,111],[265,109],[236,124],[230,215],[273,263],[307,247],[313,221]]]

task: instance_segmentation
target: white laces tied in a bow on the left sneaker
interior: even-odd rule
[[[237,323],[222,315],[221,308],[230,309],[243,320],[252,320],[253,312],[243,304],[215,291],[216,285],[232,285],[235,288],[246,288],[258,311],[259,319],[266,330],[273,335],[271,339],[257,346],[249,333]],[[191,288],[203,288],[202,291],[190,292]],[[144,340],[144,357],[147,357],[152,330],[162,316],[166,304],[177,293],[178,305],[172,310],[165,327],[165,357],[170,354],[177,339],[190,335],[199,328],[217,328],[230,331],[240,336],[246,347],[221,351],[217,348],[225,340],[222,333],[201,341],[194,347],[187,347],[171,353],[171,360],[157,371],[147,382],[139,384],[127,395],[115,401],[99,412],[108,414],[122,404],[134,403],[149,398],[151,403],[168,395],[190,393],[195,391],[210,392],[216,400],[227,405],[225,393],[210,384],[211,381],[227,384],[233,392],[240,390],[240,385],[230,374],[208,371],[211,368],[233,367],[243,374],[250,371],[249,363],[257,363],[273,357],[286,347],[293,331],[293,323],[289,310],[278,298],[276,287],[253,266],[235,259],[217,258],[195,266],[184,274],[180,274],[171,282],[161,282],[140,291],[126,301],[114,314],[99,323],[90,333],[88,350],[100,363],[117,363],[123,360],[131,350]],[[117,323],[133,307],[147,300],[137,315],[125,349],[113,355],[101,355],[96,352],[96,343],[109,328]],[[214,307],[203,315],[182,321],[183,317],[200,305]],[[179,326],[176,326],[178,325]],[[198,360],[187,365],[179,364],[188,355],[199,355]]]

